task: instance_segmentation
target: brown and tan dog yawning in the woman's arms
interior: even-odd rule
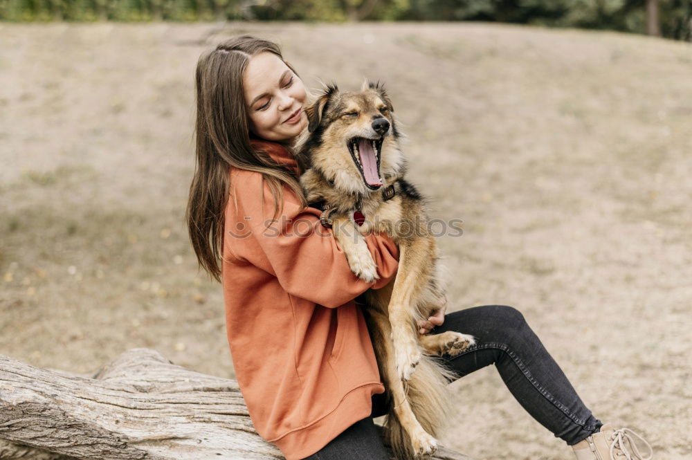
[[[435,356],[456,355],[473,337],[448,331],[419,335],[444,295],[435,238],[424,199],[406,181],[406,160],[392,102],[379,82],[342,92],[330,84],[305,110],[308,134],[300,142],[300,181],[309,203],[321,207],[353,272],[377,278],[363,234],[386,231],[399,246],[399,269],[388,286],[365,293],[368,329],[390,410],[385,424],[399,459],[432,454],[444,425],[450,371]]]

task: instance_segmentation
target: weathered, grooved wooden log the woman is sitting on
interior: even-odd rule
[[[444,448],[434,459],[471,460]],[[235,380],[136,348],[93,376],[0,355],[0,459],[283,459]]]

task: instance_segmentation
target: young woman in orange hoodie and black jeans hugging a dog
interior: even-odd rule
[[[320,225],[320,210],[305,203],[291,147],[307,127],[307,91],[276,44],[248,35],[221,42],[199,58],[196,87],[186,219],[199,264],[223,283],[228,342],[255,429],[287,460],[388,459],[372,422],[386,411],[384,387],[354,299],[396,275],[396,244],[366,237],[380,279],[364,282]],[[446,360],[457,376],[494,364],[579,460],[644,459],[636,434],[592,415],[517,309],[445,314],[444,303],[420,332],[476,338]]]

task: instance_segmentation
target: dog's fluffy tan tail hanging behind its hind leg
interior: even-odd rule
[[[424,355],[405,384],[408,401],[416,418],[432,436],[439,436],[449,416],[450,392],[447,385],[454,377],[453,372],[443,367],[439,360]],[[394,412],[393,398],[390,398],[390,410],[385,418],[385,426],[389,429],[388,441],[392,446],[394,458],[416,459],[417,453],[413,451],[411,439]]]

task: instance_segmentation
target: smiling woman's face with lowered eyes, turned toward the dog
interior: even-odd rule
[[[290,140],[307,125],[302,108],[305,86],[274,53],[263,51],[250,58],[243,90],[250,129],[256,136]]]

